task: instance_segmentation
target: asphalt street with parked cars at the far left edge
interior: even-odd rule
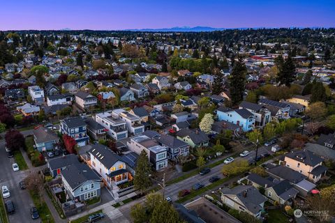
[[[14,158],[8,158],[5,151],[5,142],[0,141],[0,186],[7,185],[10,190],[10,197],[5,199],[11,200],[15,206],[15,213],[13,215],[8,215],[9,222],[36,222],[36,220],[31,219],[30,208],[34,206],[34,203],[27,190],[21,190],[19,183],[23,180],[29,170],[14,172],[12,169],[12,164]]]

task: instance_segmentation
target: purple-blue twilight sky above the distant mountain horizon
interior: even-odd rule
[[[334,0],[3,0],[1,8],[0,30],[335,27]]]

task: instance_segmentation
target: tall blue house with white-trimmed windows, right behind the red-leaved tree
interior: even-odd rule
[[[86,123],[81,117],[68,118],[61,120],[59,131],[61,134],[67,134],[77,141],[78,146],[85,146],[89,143]]]

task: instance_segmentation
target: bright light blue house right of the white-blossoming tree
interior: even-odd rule
[[[216,111],[218,121],[228,121],[239,125],[244,132],[253,130],[255,127],[255,116],[247,109],[230,109],[219,107]]]

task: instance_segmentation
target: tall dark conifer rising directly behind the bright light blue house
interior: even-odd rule
[[[230,95],[232,105],[238,105],[243,100],[243,93],[246,89],[246,66],[239,60],[234,64],[230,75]]]

